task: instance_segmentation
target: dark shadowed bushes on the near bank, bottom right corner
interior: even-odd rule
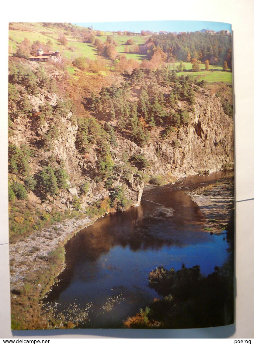
[[[127,328],[183,329],[233,323],[232,257],[203,277],[198,265],[178,271],[157,267],[148,280],[161,299],[124,321]]]

